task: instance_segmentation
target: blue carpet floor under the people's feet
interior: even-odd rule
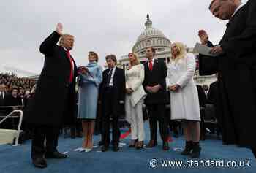
[[[146,142],[149,139],[148,122],[145,124],[146,128]],[[123,139],[122,142],[129,142],[128,136]],[[94,144],[99,142],[100,137],[94,137]],[[89,153],[75,152],[74,149],[80,147],[82,139],[64,139],[59,137],[59,151],[68,152],[68,158],[63,160],[48,159],[48,167],[46,169],[37,169],[31,164],[30,148],[31,142],[28,141],[18,147],[12,147],[11,145],[0,145],[0,173],[32,173],[32,172],[54,172],[54,173],[66,173],[66,172],[256,172],[256,159],[253,157],[250,150],[245,148],[239,148],[234,145],[222,145],[222,141],[214,139],[206,139],[206,141],[200,142],[202,147],[201,157],[199,159],[192,159],[181,155],[181,149],[184,146],[184,138],[173,138],[173,142],[170,142],[170,150],[162,150],[162,142],[159,139],[159,145],[153,149],[135,150],[130,149],[128,146],[121,147],[119,152],[102,153],[100,148],[94,148]],[[157,167],[152,168],[150,166],[151,159],[156,159],[158,162]],[[182,161],[181,165],[162,166],[161,161]],[[188,161],[188,163],[186,163]],[[204,164],[209,164],[207,161],[233,161],[232,164],[239,164],[241,166],[233,165],[229,166],[201,166],[198,165],[199,161],[205,161]],[[236,162],[235,162],[236,161]],[[243,161],[249,161],[248,165]],[[153,162],[154,164],[155,162]],[[188,165],[186,165],[188,164]],[[231,164],[231,163],[230,163]],[[165,164],[164,164],[165,165]],[[192,165],[192,166],[190,166]],[[154,165],[155,166],[155,165]]]

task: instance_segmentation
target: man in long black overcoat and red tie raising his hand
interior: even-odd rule
[[[56,45],[59,39],[60,45]],[[45,55],[45,64],[31,105],[25,110],[26,122],[34,126],[31,158],[39,168],[47,166],[45,158],[67,157],[59,153],[57,146],[64,120],[74,120],[77,66],[69,53],[73,44],[74,36],[62,34],[62,24],[58,23],[56,31],[39,48]]]

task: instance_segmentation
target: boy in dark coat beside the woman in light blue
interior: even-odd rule
[[[110,117],[112,118],[112,144],[113,151],[118,151],[120,132],[118,117],[121,112],[121,101],[125,96],[124,70],[116,67],[116,55],[107,55],[108,69],[103,72],[100,91],[102,99],[102,152],[108,150],[110,145]]]

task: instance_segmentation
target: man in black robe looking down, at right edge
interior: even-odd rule
[[[229,20],[219,45],[200,58],[200,74],[218,72],[219,109],[222,137],[227,144],[256,150],[256,1],[211,1],[210,11]]]

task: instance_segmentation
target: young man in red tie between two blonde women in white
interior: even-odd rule
[[[165,83],[167,67],[164,61],[154,59],[154,55],[154,47],[148,47],[146,49],[146,58],[148,58],[148,61],[144,64],[145,78],[143,87],[147,93],[144,101],[148,108],[151,139],[146,147],[154,147],[157,145],[157,121],[159,121],[163,150],[169,150],[168,116],[165,115],[165,104],[167,104]]]

